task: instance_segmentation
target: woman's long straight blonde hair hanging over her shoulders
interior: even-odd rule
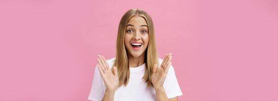
[[[155,38],[154,38],[154,28],[153,23],[150,18],[150,16],[143,10],[138,9],[131,9],[128,12],[125,13],[125,15],[122,17],[120,24],[118,26],[118,33],[117,33],[117,42],[116,42],[116,59],[114,61],[115,67],[117,67],[118,70],[118,79],[119,79],[119,87],[122,85],[127,86],[129,82],[129,65],[128,65],[128,56],[127,56],[127,50],[125,47],[125,32],[126,32],[126,26],[128,24],[128,21],[133,16],[140,16],[143,17],[147,22],[148,27],[148,46],[146,48],[145,53],[145,74],[144,74],[144,81],[147,83],[148,87],[153,87],[153,84],[151,83],[151,74],[153,71],[154,64],[158,64],[158,57],[156,53],[156,47],[155,47]]]

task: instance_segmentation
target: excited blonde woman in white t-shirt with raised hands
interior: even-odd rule
[[[116,58],[98,56],[88,99],[178,100],[182,92],[171,60],[172,54],[157,58],[150,16],[131,9],[118,27]]]

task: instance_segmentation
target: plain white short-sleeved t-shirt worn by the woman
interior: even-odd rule
[[[107,60],[107,63],[112,68],[115,58]],[[159,59],[159,63],[162,63],[162,59]],[[154,101],[155,90],[153,87],[148,88],[147,83],[142,79],[145,73],[145,64],[139,67],[132,67],[130,69],[130,78],[127,86],[121,86],[116,89],[114,94],[115,101],[125,101],[125,100],[138,100],[138,101]],[[171,65],[165,82],[163,84],[165,88],[165,93],[168,98],[176,97],[182,95],[181,89],[179,87],[175,71],[173,66]],[[104,97],[106,86],[101,78],[100,72],[98,68],[95,68],[94,79],[92,83],[92,88],[90,95],[88,97],[89,100],[97,101],[102,100]]]

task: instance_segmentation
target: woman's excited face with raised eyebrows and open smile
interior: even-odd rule
[[[145,54],[149,36],[147,22],[143,17],[133,16],[130,18],[125,32],[125,46],[133,57]]]

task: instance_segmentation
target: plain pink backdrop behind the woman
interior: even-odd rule
[[[0,1],[0,100],[87,100],[97,55],[115,57],[131,8],[173,53],[179,100],[278,100],[278,2]]]

